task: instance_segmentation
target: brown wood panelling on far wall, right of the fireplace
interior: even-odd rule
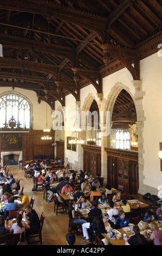
[[[14,133],[14,132],[13,132]],[[53,143],[55,141],[55,131],[50,131],[51,140],[42,140],[42,130],[30,130],[29,132],[23,132],[23,145],[20,150],[3,150],[3,151],[23,151],[23,161],[31,160],[37,155],[48,155],[51,159],[54,157]],[[1,140],[1,133],[0,133]]]

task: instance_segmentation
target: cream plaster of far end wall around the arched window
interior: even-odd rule
[[[3,93],[20,93],[20,95],[24,96],[26,99],[32,104],[33,113],[31,113],[31,120],[33,123],[34,130],[43,130],[46,127],[46,102],[41,100],[41,103],[38,103],[38,99],[36,93],[31,90],[25,90],[21,88],[15,88],[12,90],[12,87],[1,87],[0,95]],[[47,121],[49,128],[51,127],[51,107],[47,105]]]

